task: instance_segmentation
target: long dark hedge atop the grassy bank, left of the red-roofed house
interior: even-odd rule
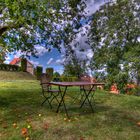
[[[0,64],[0,70],[4,71],[19,71],[20,67],[17,65]]]

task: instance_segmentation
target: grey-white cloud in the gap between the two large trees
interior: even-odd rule
[[[95,13],[101,5],[103,5],[107,0],[87,0],[86,4],[87,7],[85,9],[86,17],[91,16],[93,13]],[[88,61],[93,56],[93,51],[91,49],[91,46],[87,43],[88,41],[88,33],[90,30],[90,25],[85,24],[82,28],[80,28],[79,33],[76,35],[75,39],[70,43],[73,50],[76,53],[76,56],[80,60],[87,60]],[[64,52],[64,48],[62,47],[62,51]]]

